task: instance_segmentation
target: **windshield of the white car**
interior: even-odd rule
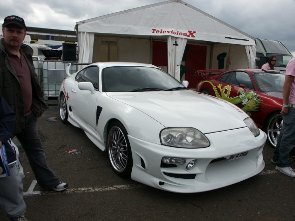
[[[159,68],[118,66],[102,70],[102,88],[109,92],[162,91],[187,89]]]

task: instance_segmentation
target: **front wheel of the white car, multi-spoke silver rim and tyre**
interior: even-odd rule
[[[120,177],[130,177],[132,171],[132,153],[127,131],[120,122],[108,126],[107,152],[111,166]]]

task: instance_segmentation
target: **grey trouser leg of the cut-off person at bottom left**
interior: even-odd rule
[[[0,206],[9,218],[20,217],[26,212],[23,182],[15,164],[10,168],[10,176],[0,178]]]

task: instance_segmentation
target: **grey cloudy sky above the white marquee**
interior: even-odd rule
[[[0,23],[8,15],[37,28],[75,30],[76,22],[165,0],[0,0]],[[295,0],[184,0],[253,36],[281,41],[295,52]]]

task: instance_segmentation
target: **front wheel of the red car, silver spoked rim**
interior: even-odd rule
[[[272,113],[266,123],[266,134],[270,144],[275,147],[279,138],[281,127],[283,125],[283,116],[277,111]]]

